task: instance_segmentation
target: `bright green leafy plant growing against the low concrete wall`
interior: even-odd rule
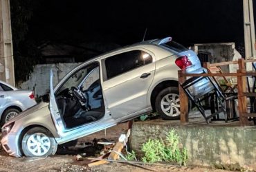
[[[150,139],[143,144],[142,151],[145,153],[142,158],[143,162],[176,162],[178,164],[185,164],[188,160],[188,153],[180,144],[179,136],[175,129],[171,129],[165,138]]]

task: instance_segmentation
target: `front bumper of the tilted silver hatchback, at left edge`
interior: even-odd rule
[[[3,136],[1,139],[1,144],[3,149],[11,156],[21,157],[17,145],[17,136],[12,133],[8,133],[6,136]]]

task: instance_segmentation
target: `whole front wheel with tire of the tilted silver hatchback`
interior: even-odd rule
[[[21,147],[27,157],[46,157],[57,151],[55,138],[48,129],[34,127],[24,134]]]

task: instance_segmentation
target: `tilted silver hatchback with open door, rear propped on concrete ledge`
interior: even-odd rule
[[[152,111],[163,119],[179,118],[179,69],[203,71],[192,50],[167,37],[86,61],[55,88],[51,72],[50,103],[39,103],[4,125],[3,149],[16,157],[54,155],[57,144]],[[194,92],[207,83],[202,80]]]

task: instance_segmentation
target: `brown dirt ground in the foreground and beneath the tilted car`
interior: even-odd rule
[[[118,126],[111,127],[105,131],[94,133],[91,136],[81,138],[77,142],[77,147],[82,147],[86,142],[92,142],[93,139],[107,138],[107,140],[116,141],[120,133],[125,132],[127,129],[127,122]],[[79,149],[60,149],[57,155],[48,158],[13,158],[7,155],[4,151],[0,151],[0,171],[218,171],[219,169],[208,169],[203,167],[192,166],[174,166],[174,165],[138,165],[135,164],[122,164],[118,162],[110,162],[100,166],[87,166],[88,160],[76,160],[77,153],[86,152],[86,157],[91,156],[96,158],[95,150],[85,150],[83,147]]]

